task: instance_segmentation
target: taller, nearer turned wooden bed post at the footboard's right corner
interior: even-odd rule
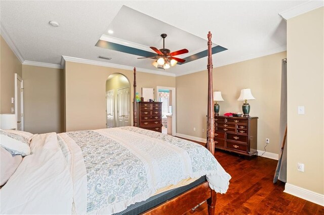
[[[214,99],[213,99],[213,61],[212,61],[212,34],[208,32],[208,111],[207,111],[207,148],[214,155],[215,152],[215,121],[214,121]],[[207,199],[208,214],[215,213],[216,192],[211,189],[211,197]]]

